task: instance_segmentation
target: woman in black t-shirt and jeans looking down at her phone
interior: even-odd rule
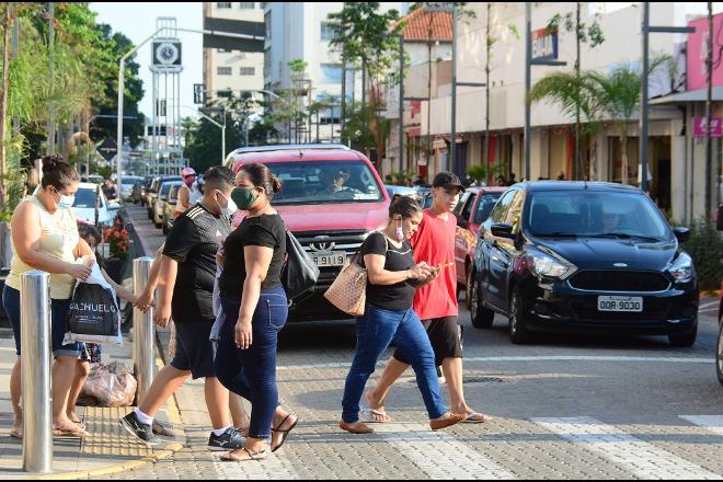
[[[389,206],[389,223],[362,245],[367,268],[367,305],[356,321],[356,353],[346,377],[342,421],[338,426],[354,434],[374,432],[359,422],[359,400],[377,360],[394,342],[412,364],[416,385],[437,431],[460,422],[464,415],[449,413],[439,394],[439,380],[429,337],[412,309],[414,290],[431,283],[444,267],[414,264],[409,239],[422,221],[422,207],[401,196]]]

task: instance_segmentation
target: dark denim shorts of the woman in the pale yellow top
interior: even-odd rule
[[[8,313],[15,338],[15,353],[20,356],[20,291],[5,285],[2,289],[2,306]],[[66,335],[66,318],[70,308],[70,298],[50,300],[50,337],[53,340],[53,356],[72,356],[79,358],[83,353],[83,343],[62,344]]]

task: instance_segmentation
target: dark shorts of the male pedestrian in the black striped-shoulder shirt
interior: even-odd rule
[[[171,366],[190,370],[191,377],[216,377],[214,347],[208,340],[214,320],[175,323],[175,355]]]

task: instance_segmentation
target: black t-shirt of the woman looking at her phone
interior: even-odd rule
[[[386,256],[386,271],[399,272],[414,267],[414,253],[410,243],[404,241],[402,248],[397,248],[381,232],[369,236],[362,244],[363,260],[367,254]],[[372,285],[367,282],[367,301],[383,310],[409,310],[414,302],[415,289],[412,279],[395,285]]]

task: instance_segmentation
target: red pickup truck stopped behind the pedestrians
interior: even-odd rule
[[[282,181],[272,204],[321,271],[313,295],[295,302],[289,321],[348,319],[323,294],[369,233],[387,223],[390,199],[379,174],[342,145],[249,147],[226,159],[233,171],[252,162]]]

